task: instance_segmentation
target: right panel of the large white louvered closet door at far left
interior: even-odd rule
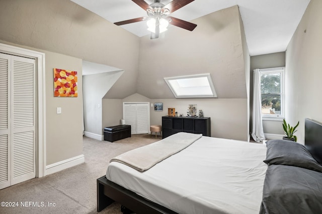
[[[36,176],[35,60],[12,57],[11,185]]]

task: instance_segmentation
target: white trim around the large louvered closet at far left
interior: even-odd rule
[[[37,65],[37,145],[36,177],[45,176],[46,171],[46,92],[45,92],[45,54],[24,48],[0,43],[0,52],[36,59]]]

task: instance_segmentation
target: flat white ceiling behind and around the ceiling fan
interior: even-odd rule
[[[114,23],[146,16],[146,12],[131,0],[71,0]],[[153,0],[145,0],[151,4]],[[172,0],[161,0],[167,5]],[[215,11],[239,6],[251,56],[283,52],[293,36],[310,0],[195,0],[171,16],[188,22]],[[120,26],[142,37],[149,35],[146,23]],[[177,28],[177,27],[170,27]],[[198,26],[197,26],[198,28]]]

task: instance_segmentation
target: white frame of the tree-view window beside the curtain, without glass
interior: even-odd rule
[[[281,114],[262,114],[263,120],[283,120],[285,118],[285,67],[259,69],[260,75],[281,73]],[[261,91],[262,94],[262,91]]]

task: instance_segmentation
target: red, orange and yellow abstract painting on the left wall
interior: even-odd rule
[[[54,68],[54,97],[77,97],[77,71]]]

